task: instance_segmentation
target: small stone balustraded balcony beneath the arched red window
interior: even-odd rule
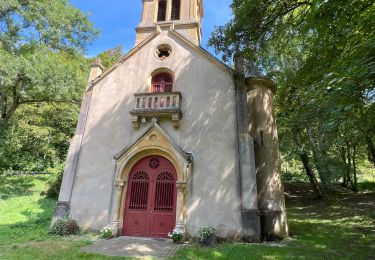
[[[135,108],[130,111],[134,128],[139,128],[142,118],[170,118],[178,128],[182,117],[180,92],[135,94]]]

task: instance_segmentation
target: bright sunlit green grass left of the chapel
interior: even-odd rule
[[[48,234],[55,201],[41,195],[47,178],[0,176],[0,259],[109,259],[81,253],[87,238]]]

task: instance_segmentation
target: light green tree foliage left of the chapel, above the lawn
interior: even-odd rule
[[[65,160],[97,32],[66,0],[0,3],[0,173]]]

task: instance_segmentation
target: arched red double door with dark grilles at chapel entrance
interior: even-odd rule
[[[123,235],[167,237],[176,224],[177,173],[160,156],[140,160],[129,175]]]

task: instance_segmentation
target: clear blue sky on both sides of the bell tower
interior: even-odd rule
[[[90,21],[100,36],[88,48],[92,57],[110,48],[122,45],[125,52],[134,47],[135,28],[141,19],[142,0],[70,0],[70,2],[89,14]],[[231,17],[231,0],[204,0],[203,41],[206,43],[215,25],[225,24]],[[212,49],[207,48],[213,52]]]

